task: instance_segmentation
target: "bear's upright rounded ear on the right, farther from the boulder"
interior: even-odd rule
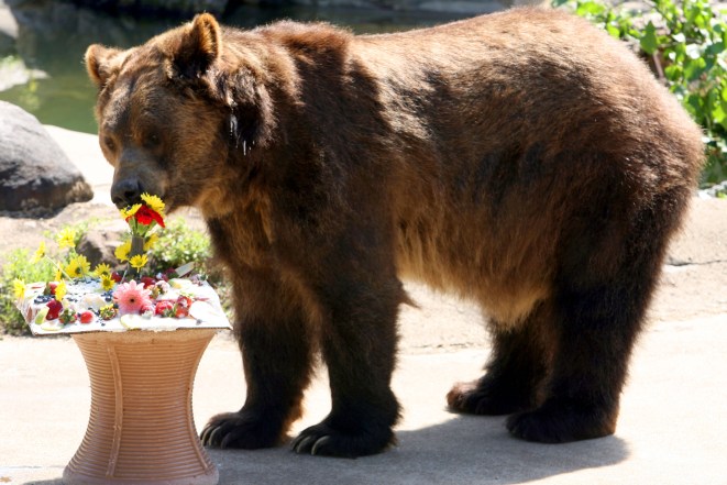
[[[209,69],[221,52],[220,25],[209,13],[200,13],[187,24],[172,55],[177,74],[195,79]]]

